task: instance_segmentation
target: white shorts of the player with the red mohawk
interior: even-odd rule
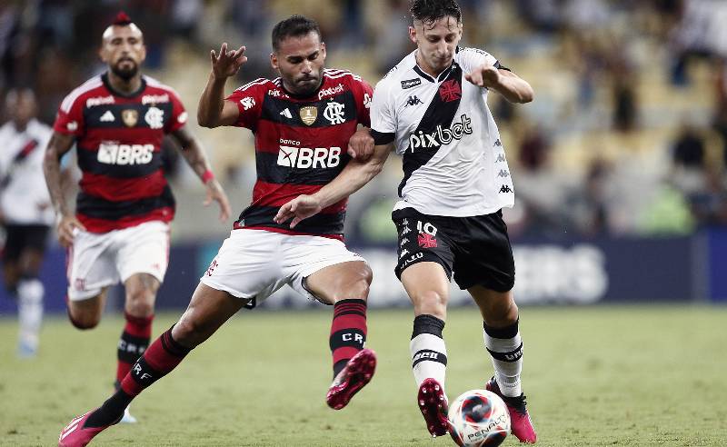
[[[169,225],[144,222],[108,233],[79,232],[68,250],[68,299],[91,298],[135,273],[161,283],[169,264]]]

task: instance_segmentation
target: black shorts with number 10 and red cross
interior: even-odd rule
[[[421,214],[413,208],[392,213],[399,233],[396,277],[415,263],[443,266],[460,289],[482,285],[507,292],[515,283],[513,247],[502,211],[473,217]]]

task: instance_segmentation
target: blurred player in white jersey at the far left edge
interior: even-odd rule
[[[5,96],[10,121],[0,128],[0,224],[5,227],[5,288],[17,298],[17,353],[35,355],[43,320],[44,286],[38,279],[53,208],[43,178],[43,148],[51,128],[35,119],[35,94],[11,90]]]

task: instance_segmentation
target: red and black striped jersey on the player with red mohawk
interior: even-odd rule
[[[106,233],[174,218],[161,144],[164,134],[186,121],[176,92],[148,76],[133,94],[116,92],[104,74],[65,97],[54,130],[76,138],[83,177],[75,213],[88,231]]]

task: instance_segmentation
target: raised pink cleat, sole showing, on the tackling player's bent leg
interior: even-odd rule
[[[356,392],[371,381],[375,369],[376,353],[370,349],[362,349],[346,363],[341,373],[335,376],[331,388],[325,395],[325,402],[334,410],[341,410]]]

